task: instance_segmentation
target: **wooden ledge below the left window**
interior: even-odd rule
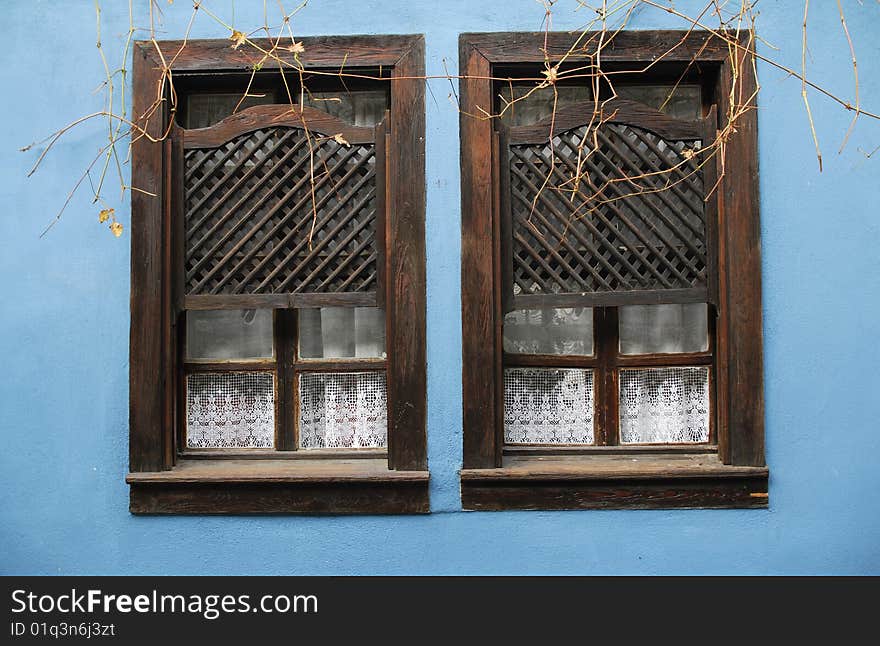
[[[133,514],[424,514],[428,472],[383,459],[182,460],[129,473]]]

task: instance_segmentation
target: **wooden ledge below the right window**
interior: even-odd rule
[[[766,467],[717,455],[505,456],[497,469],[462,469],[464,509],[764,508]]]

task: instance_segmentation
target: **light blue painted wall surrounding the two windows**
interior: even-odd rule
[[[127,3],[103,4],[104,39],[116,56],[128,28]],[[191,4],[161,4],[163,36],[180,37]],[[587,20],[574,4],[557,4],[554,28]],[[848,50],[832,4],[813,8],[810,68],[818,82],[850,94]],[[880,8],[845,5],[863,104],[880,110]],[[208,6],[231,16],[229,0]],[[262,7],[239,0],[236,26],[260,24]],[[814,94],[826,160],[819,174],[799,83],[759,66],[769,511],[461,512],[458,116],[447,99],[449,83],[437,80],[427,101],[434,513],[134,517],[123,482],[128,231],[113,238],[83,193],[38,238],[102,144],[102,127],[69,133],[31,179],[25,172],[36,155],[17,151],[99,108],[91,94],[102,79],[92,1],[8,0],[4,9],[0,572],[880,573],[880,152],[867,159],[857,148],[880,145],[876,122],[862,119],[838,155],[849,115]],[[799,66],[802,3],[767,2],[761,9],[760,33],[782,53],[763,44],[761,51]],[[428,73],[443,74],[444,60],[457,70],[460,32],[536,30],[542,17],[534,0],[315,0],[294,26],[298,35],[424,33]],[[683,25],[643,9],[631,26]],[[193,32],[226,35],[205,17]],[[127,209],[121,216],[128,225]]]

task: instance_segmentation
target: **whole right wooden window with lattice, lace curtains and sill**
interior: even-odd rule
[[[460,41],[463,504],[766,506],[756,111],[701,154],[751,55],[622,32],[534,91],[573,43]]]

